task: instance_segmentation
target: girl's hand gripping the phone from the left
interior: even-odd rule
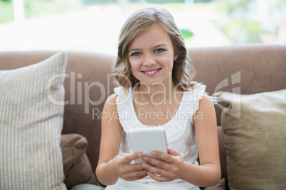
[[[123,153],[117,155],[113,160],[113,168],[118,177],[126,181],[142,179],[147,176],[147,170],[142,167],[142,164],[131,164],[132,160],[142,157],[142,152]]]

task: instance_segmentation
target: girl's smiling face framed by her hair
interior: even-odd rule
[[[128,48],[132,74],[147,84],[171,81],[173,62],[177,57],[168,33],[157,24],[137,35]]]

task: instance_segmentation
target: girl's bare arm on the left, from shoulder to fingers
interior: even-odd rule
[[[97,179],[105,185],[115,184],[119,177],[131,181],[147,175],[147,171],[141,164],[130,164],[132,160],[142,157],[141,152],[118,155],[122,126],[118,119],[116,97],[112,95],[107,99],[102,113],[100,158],[96,175]]]

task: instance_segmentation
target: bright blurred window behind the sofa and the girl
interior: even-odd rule
[[[169,10],[188,47],[286,42],[286,0],[0,0],[0,51],[116,55],[123,22],[145,6]]]

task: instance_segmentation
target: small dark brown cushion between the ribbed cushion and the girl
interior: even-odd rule
[[[70,188],[76,184],[96,184],[90,160],[85,154],[88,141],[78,134],[61,135],[60,147],[63,151],[65,185]]]

